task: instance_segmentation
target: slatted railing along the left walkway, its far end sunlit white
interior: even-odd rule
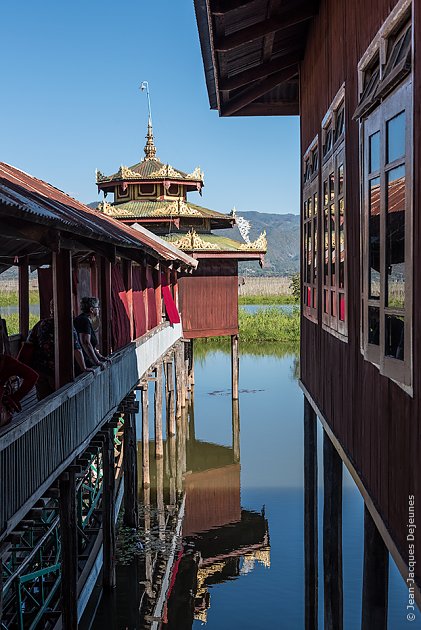
[[[0,540],[86,448],[139,379],[182,336],[160,324],[0,432]]]

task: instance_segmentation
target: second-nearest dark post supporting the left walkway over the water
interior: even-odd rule
[[[106,590],[115,587],[115,458],[114,431],[108,429],[102,450],[103,491],[102,491],[102,529],[103,529],[103,569],[102,585]]]

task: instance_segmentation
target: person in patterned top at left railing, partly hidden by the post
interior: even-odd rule
[[[39,374],[36,383],[38,400],[43,400],[55,392],[55,344],[54,344],[54,302],[50,302],[50,317],[39,321],[29,333],[28,343],[33,345],[31,366]],[[87,367],[80,347],[76,330],[73,328],[73,351],[77,371],[92,372]]]

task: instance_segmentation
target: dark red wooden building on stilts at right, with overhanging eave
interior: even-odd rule
[[[307,627],[317,619],[316,413],[325,429],[325,572],[331,561],[334,573],[325,627],[342,627],[342,460],[366,506],[362,627],[384,628],[383,549],[412,605],[421,601],[420,532],[408,538],[412,504],[421,505],[421,7],[195,0],[195,8],[211,107],[300,116]]]

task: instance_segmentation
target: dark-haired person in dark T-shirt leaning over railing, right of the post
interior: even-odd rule
[[[83,297],[80,301],[82,311],[74,319],[74,326],[79,335],[85,363],[89,367],[100,366],[104,369],[107,358],[103,357],[98,350],[98,337],[96,336],[94,324],[99,321],[99,300],[96,297]]]

